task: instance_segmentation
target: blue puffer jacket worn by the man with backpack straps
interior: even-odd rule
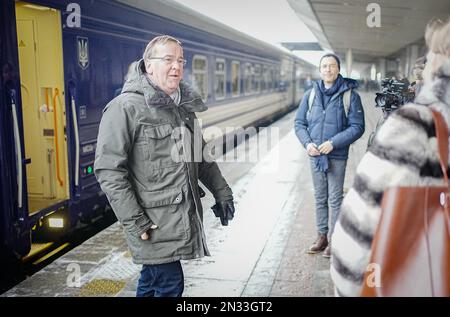
[[[348,158],[350,144],[364,133],[364,110],[361,105],[361,98],[354,90],[358,87],[358,83],[353,79],[342,77],[338,78],[337,83],[340,83],[340,87],[333,87],[337,89],[326,108],[323,105],[323,99],[326,96],[323,96],[319,87],[321,82],[313,83],[312,89],[315,89],[316,96],[311,111],[308,113],[310,89],[304,94],[300,102],[295,117],[295,133],[305,148],[311,142],[319,146],[323,142],[331,140],[333,151],[328,154],[328,157],[345,160]],[[346,117],[342,97],[348,89],[353,90]]]

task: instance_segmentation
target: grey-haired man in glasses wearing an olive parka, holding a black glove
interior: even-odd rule
[[[154,38],[100,122],[94,171],[133,262],[143,264],[137,296],[181,296],[180,260],[210,255],[199,180],[214,195],[222,224],[234,215],[217,164],[195,157],[205,144],[195,112],[207,107],[181,81],[185,64],[177,39]]]

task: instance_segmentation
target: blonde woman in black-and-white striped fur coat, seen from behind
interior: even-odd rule
[[[338,296],[359,296],[380,218],[383,192],[392,186],[441,185],[431,111],[450,127],[450,19],[428,24],[424,84],[414,104],[395,111],[359,163],[333,233],[331,277]],[[402,241],[398,241],[402,243]]]

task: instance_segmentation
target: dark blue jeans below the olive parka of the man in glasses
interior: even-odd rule
[[[136,297],[181,297],[184,275],[180,261],[142,265]]]

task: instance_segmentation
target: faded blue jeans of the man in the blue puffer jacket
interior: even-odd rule
[[[314,196],[316,199],[316,227],[319,234],[328,234],[328,203],[331,207],[331,230],[341,212],[342,199],[344,198],[344,179],[347,160],[328,159],[328,171],[316,172],[314,162],[311,159],[311,173],[314,184]]]

